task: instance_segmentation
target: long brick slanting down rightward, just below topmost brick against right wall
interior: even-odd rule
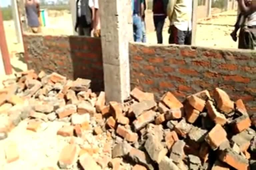
[[[219,113],[219,112],[215,109],[215,107],[214,107],[212,101],[208,100],[208,101],[206,102],[206,109],[207,109],[207,111],[208,111],[209,117],[210,117],[211,120],[213,120],[216,124],[220,124],[220,125],[226,124],[226,122],[227,122],[226,117],[225,117],[223,114]]]

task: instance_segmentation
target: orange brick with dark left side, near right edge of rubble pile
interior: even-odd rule
[[[251,120],[247,115],[236,118],[232,123],[232,129],[235,133],[239,133],[251,126]]]

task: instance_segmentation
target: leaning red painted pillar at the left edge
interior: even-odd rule
[[[0,9],[1,9],[1,6],[0,6]],[[3,23],[1,10],[0,10],[0,49],[2,52],[5,74],[12,74],[12,66],[11,66],[9,52],[6,44],[4,23]]]

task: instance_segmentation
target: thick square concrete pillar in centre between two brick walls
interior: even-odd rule
[[[130,93],[131,0],[99,0],[106,100],[123,102]]]

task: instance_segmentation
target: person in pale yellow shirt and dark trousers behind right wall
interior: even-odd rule
[[[169,43],[191,45],[193,0],[169,0]]]

